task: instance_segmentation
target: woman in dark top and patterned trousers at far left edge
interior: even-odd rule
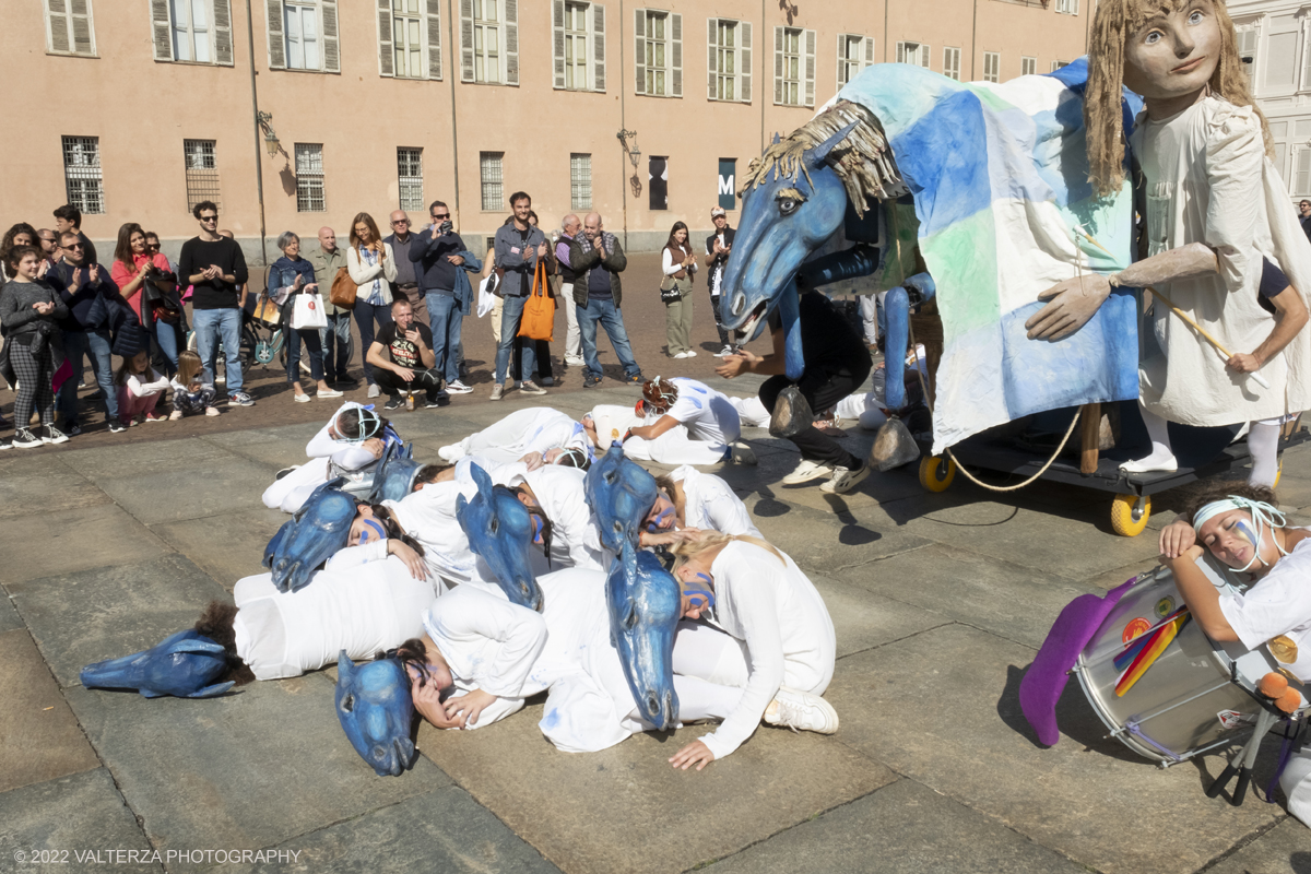
[[[4,349],[0,349],[0,375],[12,385],[18,383],[13,402],[13,443],[0,443],[0,449],[16,446],[30,449],[42,443],[67,443],[55,427],[55,392],[51,380],[55,359],[63,360],[58,322],[68,317],[68,307],[55,290],[37,278],[43,261],[41,249],[14,246],[5,253],[9,282],[0,288],[0,325]],[[31,409],[41,414],[38,436],[28,430]]]

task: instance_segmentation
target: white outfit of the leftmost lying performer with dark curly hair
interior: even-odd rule
[[[368,561],[372,553],[363,549],[338,552],[298,592],[279,592],[273,574],[237,580],[232,628],[237,655],[256,679],[300,676],[336,664],[342,650],[371,659],[423,633],[433,580],[414,579],[395,556]]]

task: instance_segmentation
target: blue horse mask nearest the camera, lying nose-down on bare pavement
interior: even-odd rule
[[[355,667],[346,650],[337,656],[337,719],[350,746],[379,777],[400,777],[418,759],[410,740],[414,702],[409,689],[397,659]]]

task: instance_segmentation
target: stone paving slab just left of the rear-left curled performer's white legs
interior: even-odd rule
[[[122,466],[123,476],[97,485],[140,522],[156,525],[260,507],[275,472],[239,457],[210,459],[178,470],[152,470],[143,461],[139,470]]]

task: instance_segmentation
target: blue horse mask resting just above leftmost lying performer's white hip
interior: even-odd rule
[[[273,571],[279,592],[298,592],[313,573],[346,546],[355,499],[337,478],[323,484],[305,499],[291,522],[283,523],[264,550],[264,566]]]

